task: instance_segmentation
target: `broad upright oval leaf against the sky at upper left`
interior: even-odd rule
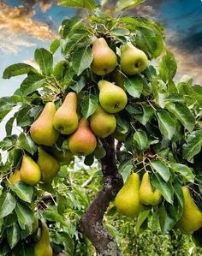
[[[52,71],[53,57],[50,51],[47,51],[44,48],[38,48],[34,52],[35,62],[38,63],[39,68],[42,71],[42,74],[48,76]]]

